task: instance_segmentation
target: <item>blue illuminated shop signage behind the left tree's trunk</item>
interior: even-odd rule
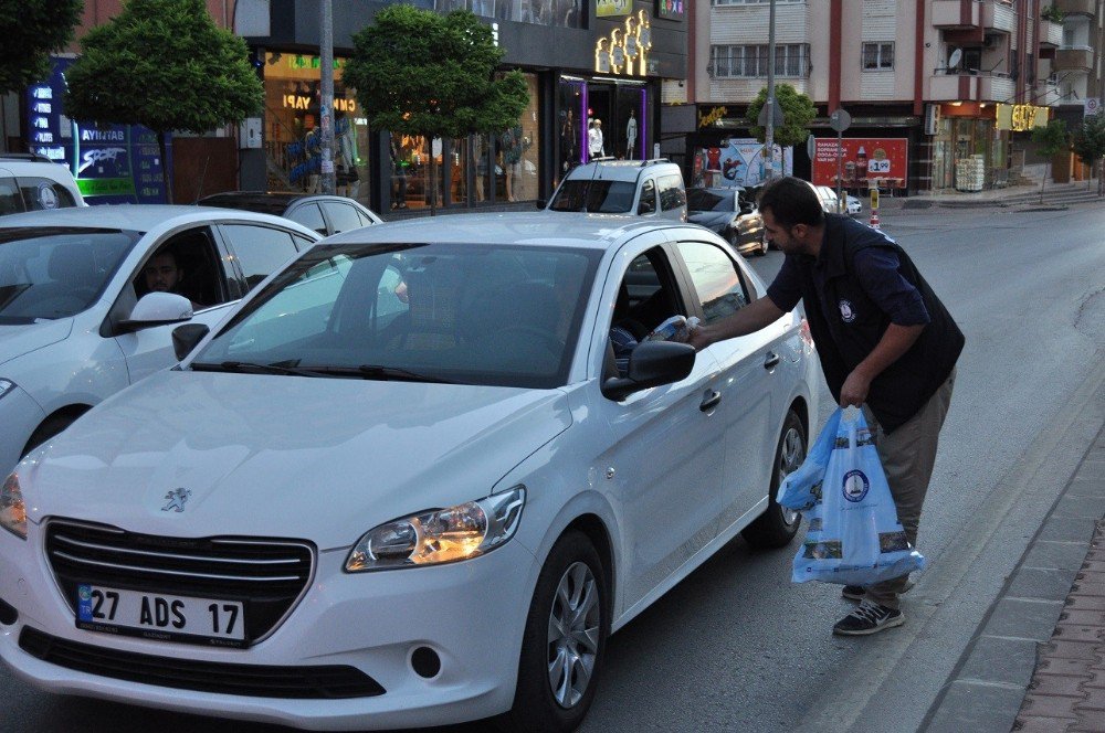
[[[53,59],[50,79],[28,87],[28,147],[69,167],[90,203],[165,203],[161,167],[169,166],[171,176],[171,137],[170,160],[162,161],[156,134],[140,125],[99,129],[71,121],[62,109],[62,75],[72,63]]]

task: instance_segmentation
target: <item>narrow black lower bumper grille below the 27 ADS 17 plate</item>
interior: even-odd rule
[[[20,634],[19,646],[66,669],[180,690],[301,700],[369,698],[385,691],[359,669],[340,665],[265,667],[154,657],[60,639],[30,627]]]

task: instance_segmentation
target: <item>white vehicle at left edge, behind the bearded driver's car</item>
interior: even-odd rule
[[[36,153],[0,152],[0,215],[85,205],[65,166]]]

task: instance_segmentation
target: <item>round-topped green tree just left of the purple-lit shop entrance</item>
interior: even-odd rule
[[[496,78],[505,51],[473,13],[439,14],[396,3],[352,36],[343,81],[357,91],[369,125],[392,135],[498,135],[516,125],[529,91],[522,72]],[[430,156],[430,213],[438,173]]]

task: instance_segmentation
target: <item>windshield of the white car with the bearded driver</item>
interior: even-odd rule
[[[0,323],[85,310],[140,237],[140,232],[109,229],[0,229]]]

